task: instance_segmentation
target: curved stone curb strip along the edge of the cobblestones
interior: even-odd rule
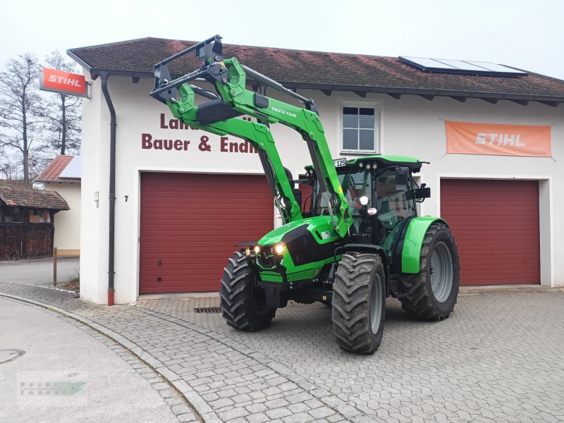
[[[183,381],[183,379],[178,376],[178,374],[172,372],[170,369],[167,369],[164,364],[157,360],[157,358],[147,353],[147,351],[143,350],[139,345],[129,341],[124,336],[121,336],[119,333],[111,331],[110,329],[106,328],[106,326],[102,326],[101,324],[98,324],[90,319],[86,319],[79,314],[67,312],[66,310],[55,307],[54,305],[30,300],[29,298],[19,297],[18,295],[0,293],[0,296],[12,298],[13,300],[20,300],[22,302],[28,302],[45,309],[49,309],[53,312],[63,314],[66,317],[71,317],[72,319],[80,321],[80,323],[84,324],[85,326],[89,326],[91,329],[104,334],[111,340],[120,344],[123,348],[129,350],[130,353],[135,355],[135,357],[145,362],[148,367],[151,367],[154,372],[160,374],[168,382],[168,384],[176,388],[176,390],[180,392],[180,395],[185,398],[186,402],[195,410],[197,417],[200,417],[200,419],[202,419],[205,423],[221,423],[221,419],[219,419],[214,410],[212,410],[212,407],[209,407],[204,399],[185,381]]]

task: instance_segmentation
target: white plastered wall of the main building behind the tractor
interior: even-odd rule
[[[82,247],[81,295],[98,303],[106,302],[108,256],[109,112],[102,97],[100,78],[93,81],[92,99],[83,106],[82,130]],[[117,114],[116,150],[116,302],[137,298],[138,236],[141,171],[195,173],[262,173],[257,154],[229,151],[229,142],[200,130],[171,129],[168,108],[149,97],[152,79],[111,76],[109,90]],[[273,92],[269,92],[269,95]],[[540,181],[541,283],[564,285],[564,245],[554,237],[563,233],[564,195],[564,118],[561,107],[538,103],[521,106],[500,101],[489,104],[479,99],[458,102],[436,97],[433,101],[413,95],[393,99],[385,94],[368,94],[365,99],[353,93],[319,91],[300,94],[313,97],[321,112],[326,137],[333,157],[341,154],[343,104],[379,104],[381,109],[381,152],[405,154],[430,161],[421,173],[422,182],[431,186],[432,197],[422,204],[423,214],[440,216],[440,178],[526,178]],[[285,99],[285,101],[288,101]],[[164,120],[161,120],[164,114]],[[446,154],[445,120],[520,125],[553,125],[553,159],[531,157],[471,156]],[[556,123],[556,125],[554,125]],[[174,123],[172,123],[174,125]],[[167,128],[168,127],[168,128]],[[274,140],[285,166],[295,176],[310,163],[305,142],[298,133],[283,125],[273,125]],[[149,147],[149,137],[151,148]],[[207,137],[211,151],[201,143]],[[204,138],[205,139],[205,138]],[[172,140],[170,150],[155,149],[155,140]],[[175,141],[179,140],[179,142]],[[157,142],[157,147],[159,142]],[[234,146],[231,146],[233,150]],[[94,202],[99,192],[99,208]],[[487,207],[484,204],[484,207]],[[492,216],[503,219],[503,216]],[[527,248],[528,246],[524,246]]]

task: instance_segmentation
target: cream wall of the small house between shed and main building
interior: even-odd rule
[[[47,191],[59,192],[70,210],[61,210],[54,216],[54,247],[59,255],[78,255],[80,252],[80,183],[46,182]]]

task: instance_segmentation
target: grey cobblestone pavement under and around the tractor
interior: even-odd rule
[[[329,307],[290,305],[259,333],[197,314],[216,298],[94,306],[46,288],[0,292],[48,303],[105,331],[164,376],[206,422],[563,422],[564,292],[461,295],[450,319],[419,322],[396,300],[371,356],[340,350]]]

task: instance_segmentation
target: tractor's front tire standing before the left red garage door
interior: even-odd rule
[[[270,325],[275,307],[266,305],[264,290],[255,283],[245,254],[235,251],[223,268],[220,307],[223,319],[240,331],[259,331]]]

